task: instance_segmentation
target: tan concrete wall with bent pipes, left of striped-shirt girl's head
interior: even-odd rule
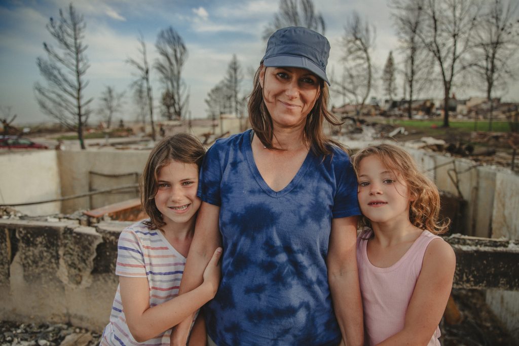
[[[142,174],[149,150],[81,151],[58,152],[63,196],[79,195],[89,191],[89,171],[103,174]],[[90,184],[99,190],[135,183],[135,175],[124,177],[92,176]],[[105,193],[94,197],[82,197],[63,201],[62,213],[92,209],[106,204],[121,202],[138,197],[137,190]]]

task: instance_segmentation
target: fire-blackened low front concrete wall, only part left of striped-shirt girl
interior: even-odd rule
[[[118,284],[117,239],[128,224],[0,220],[0,318],[101,331]]]

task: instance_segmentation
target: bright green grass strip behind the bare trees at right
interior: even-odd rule
[[[392,122],[397,126],[415,128],[415,129],[432,129],[433,125],[442,128],[443,120],[394,120]],[[449,121],[450,129],[457,129],[462,132],[474,131],[474,121]],[[477,131],[488,131],[488,121],[477,121]],[[510,123],[508,121],[493,121],[493,132],[510,132]]]

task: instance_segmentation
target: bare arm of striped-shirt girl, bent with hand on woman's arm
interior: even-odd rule
[[[152,308],[149,307],[148,280],[120,276],[122,307],[135,341],[143,342],[163,333],[211,300],[220,282],[218,260],[221,255],[222,248],[217,248],[203,272],[201,285]]]

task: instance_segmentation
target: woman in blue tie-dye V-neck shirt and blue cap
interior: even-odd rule
[[[252,130],[204,159],[181,292],[201,283],[222,244],[222,281],[204,309],[210,344],[362,344],[357,180],[323,133],[324,121],[338,124],[327,110],[329,52],[303,27],[272,34],[254,77]],[[172,342],[185,345],[188,328],[177,326]]]

